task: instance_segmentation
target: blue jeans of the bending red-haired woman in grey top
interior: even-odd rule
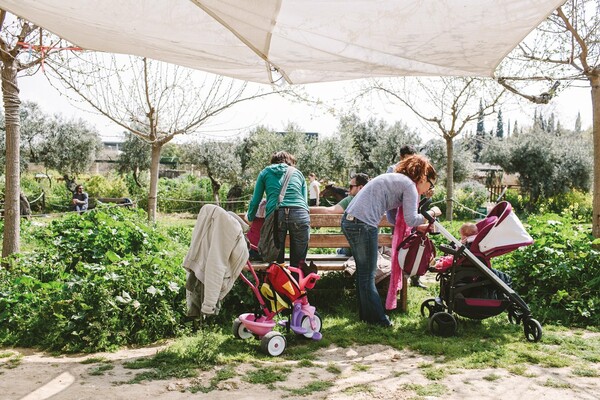
[[[356,262],[356,294],[358,315],[361,321],[389,325],[389,318],[375,287],[377,270],[378,228],[354,218],[342,217],[342,232],[346,236]]]

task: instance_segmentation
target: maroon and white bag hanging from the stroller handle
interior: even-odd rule
[[[425,275],[435,258],[435,246],[423,232],[413,232],[398,245],[398,265],[408,276]]]

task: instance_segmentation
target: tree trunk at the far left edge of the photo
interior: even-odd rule
[[[6,123],[6,187],[4,190],[4,239],[2,257],[18,253],[20,249],[20,193],[19,171],[21,121],[19,118],[19,86],[16,61],[2,60],[2,98]]]

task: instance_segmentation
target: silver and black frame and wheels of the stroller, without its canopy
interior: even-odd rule
[[[442,272],[430,269],[430,271],[438,272],[436,280],[440,281],[440,295],[436,298],[427,299],[421,304],[421,315],[429,317],[428,325],[431,333],[444,337],[455,335],[457,322],[454,314],[471,319],[484,319],[498,315],[508,309],[508,319],[511,323],[520,324],[523,322],[525,338],[530,342],[540,341],[542,326],[532,317],[527,303],[492,271],[490,265],[486,265],[484,261],[473,254],[465,244],[456,239],[436,218],[427,212],[430,204],[431,199],[422,201],[419,212],[434,226],[436,232],[439,232],[454,245],[453,247],[444,244],[438,246],[442,252],[454,257],[452,266]],[[512,212],[510,204],[507,202],[497,204],[488,214],[488,218],[493,217],[494,213],[500,211]],[[531,238],[529,237],[529,239]],[[532,240],[529,242],[524,241],[517,244],[517,247],[531,243]],[[499,247],[493,256],[511,251],[507,247]],[[469,265],[460,265],[459,261],[465,260],[468,260]],[[463,277],[482,279],[465,284],[461,282]],[[504,298],[477,299],[463,296],[463,293],[467,290],[488,285],[492,285],[495,290],[504,295]]]

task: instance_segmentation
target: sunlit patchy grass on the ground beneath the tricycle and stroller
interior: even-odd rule
[[[254,362],[254,369],[248,371],[242,379],[252,384],[274,387],[278,382],[288,379],[292,368],[281,363],[294,362],[294,368],[318,367],[314,363],[315,351],[328,346],[349,348],[361,345],[384,344],[397,350],[412,350],[415,353],[431,356],[433,362],[418,366],[421,373],[432,385],[415,389],[419,396],[428,396],[443,392],[441,381],[448,374],[465,369],[503,368],[514,375],[534,377],[528,373],[528,367],[537,365],[547,368],[571,368],[576,376],[591,376],[597,372],[589,368],[589,360],[600,359],[600,335],[583,337],[577,330],[565,330],[558,326],[544,326],[541,342],[530,343],[525,340],[523,327],[511,325],[502,314],[483,321],[459,319],[457,336],[440,338],[431,336],[427,329],[427,319],[420,315],[420,304],[436,294],[436,288],[426,291],[409,288],[408,312],[391,313],[393,329],[367,325],[357,321],[356,312],[343,305],[330,314],[322,313],[323,339],[306,340],[287,334],[287,348],[278,358],[266,356],[260,352],[260,342],[254,339],[237,340],[230,333],[230,326],[210,326],[193,337],[178,340],[173,346],[155,357],[128,363],[126,367],[144,369],[130,382],[171,377],[197,376],[199,369],[208,370],[214,366],[234,367],[240,363]],[[265,362],[269,365],[265,365]],[[595,361],[597,362],[597,361]],[[274,365],[271,365],[273,364]],[[352,365],[353,371],[368,371],[371,366],[364,363]],[[339,366],[329,363],[324,371],[339,376]],[[501,377],[490,374],[487,380]],[[223,377],[215,378],[217,381]],[[307,378],[307,380],[309,380]],[[215,381],[216,382],[216,381]],[[310,392],[320,385],[331,382],[323,377],[313,379],[299,390]],[[207,388],[213,388],[216,383]],[[193,390],[193,389],[190,389]],[[198,389],[199,390],[199,389]],[[202,389],[202,390],[206,390]],[[369,391],[366,385],[354,386],[350,391]],[[426,393],[426,394],[421,394]]]

